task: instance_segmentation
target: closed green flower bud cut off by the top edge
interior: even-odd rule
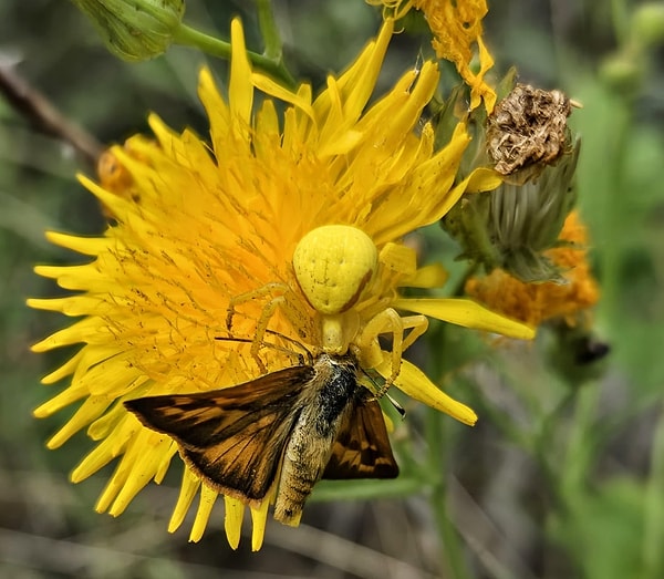
[[[184,0],[73,0],[113,54],[126,61],[166,52],[185,13]]]

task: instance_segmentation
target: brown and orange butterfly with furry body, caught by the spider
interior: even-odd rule
[[[394,478],[385,420],[351,353],[322,353],[237,386],[125,401],[167,434],[218,493],[258,507],[276,482],[274,518],[298,525],[320,478]]]

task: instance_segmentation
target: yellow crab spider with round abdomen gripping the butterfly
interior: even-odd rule
[[[382,365],[378,335],[391,333],[391,374],[385,390],[398,376],[403,351],[428,327],[425,316],[402,318],[393,308],[380,310],[360,325],[353,310],[378,269],[378,251],[362,230],[345,225],[328,225],[307,234],[295,247],[293,270],[302,293],[321,321],[323,351],[343,354],[351,347],[362,365]],[[404,338],[406,330],[411,332]]]

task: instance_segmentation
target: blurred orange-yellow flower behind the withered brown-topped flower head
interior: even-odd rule
[[[550,249],[546,256],[560,269],[562,282],[525,283],[495,269],[484,278],[469,279],[466,292],[495,311],[532,327],[556,318],[574,327],[599,299],[598,283],[587,259],[588,235],[577,211],[564,221],[560,240],[567,245]]]

